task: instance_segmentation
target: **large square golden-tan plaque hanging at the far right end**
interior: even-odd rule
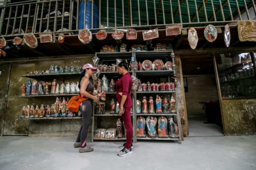
[[[256,41],[256,21],[244,20],[237,22],[240,41]]]

